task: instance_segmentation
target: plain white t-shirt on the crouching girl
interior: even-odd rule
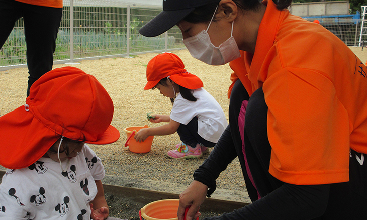
[[[198,88],[193,91],[197,101],[189,101],[178,93],[169,117],[187,125],[197,116],[198,134],[207,141],[217,143],[228,125],[223,109],[205,89]]]

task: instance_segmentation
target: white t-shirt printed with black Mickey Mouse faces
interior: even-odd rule
[[[66,172],[59,162],[43,157],[27,168],[8,169],[0,184],[0,219],[89,220],[95,180],[104,176],[101,159],[87,145],[70,159]]]

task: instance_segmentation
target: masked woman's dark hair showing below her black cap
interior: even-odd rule
[[[243,11],[258,10],[261,5],[261,2],[259,0],[232,1],[236,3],[237,7],[242,9]],[[219,2],[220,1],[195,8],[195,10],[188,16],[186,16],[184,20],[190,23],[209,22],[212,19],[213,13],[217,8]],[[287,9],[291,5],[292,0],[274,0],[274,3],[277,4],[278,10],[283,10]],[[216,17],[213,18],[213,21],[216,21]]]

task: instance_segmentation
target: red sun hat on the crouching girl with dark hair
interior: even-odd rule
[[[203,87],[201,79],[186,71],[184,62],[173,53],[162,53],[153,57],[147,65],[144,89],[151,89],[163,78],[170,78],[173,82],[188,89]]]

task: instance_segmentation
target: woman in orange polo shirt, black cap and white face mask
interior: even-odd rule
[[[230,62],[230,124],[180,195],[188,220],[238,156],[252,204],[211,219],[367,216],[367,68],[291,0],[166,0],[139,32],[177,25],[193,57]],[[208,190],[209,189],[209,190]]]

